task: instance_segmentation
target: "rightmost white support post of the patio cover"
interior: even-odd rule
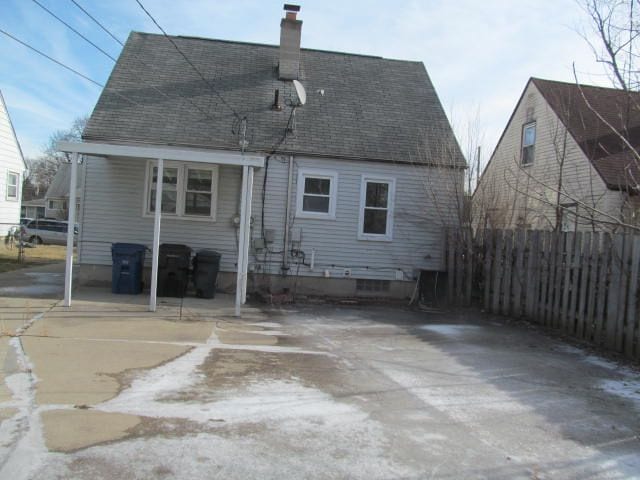
[[[253,167],[242,167],[242,193],[240,195],[240,232],[238,233],[238,264],[236,276],[236,317],[247,300],[247,268],[251,231],[251,202],[253,198]]]

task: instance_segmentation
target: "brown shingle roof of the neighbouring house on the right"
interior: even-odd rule
[[[622,133],[636,152],[640,149],[640,93],[539,78],[531,80],[607,186],[615,190],[637,190],[640,160],[611,127]]]

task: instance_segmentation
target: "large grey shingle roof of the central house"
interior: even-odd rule
[[[132,32],[85,140],[240,150],[246,117],[250,152],[466,166],[421,62],[302,49],[307,103],[282,141],[296,96],[278,79],[277,46],[171,38],[220,96],[167,38]]]

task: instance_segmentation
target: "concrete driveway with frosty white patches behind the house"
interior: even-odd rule
[[[0,478],[640,478],[640,375],[526,326],[146,300],[0,298]]]

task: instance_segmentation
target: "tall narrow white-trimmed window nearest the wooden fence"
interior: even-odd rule
[[[392,239],[395,185],[394,178],[362,178],[358,231],[360,240]]]

